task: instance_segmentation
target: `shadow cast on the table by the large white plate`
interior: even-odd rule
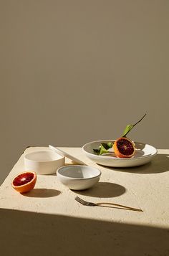
[[[169,171],[169,155],[159,153],[150,163],[146,163],[143,166],[130,168],[115,168],[105,166],[105,168],[112,169],[114,171],[130,172],[135,174],[159,174],[165,171]]]

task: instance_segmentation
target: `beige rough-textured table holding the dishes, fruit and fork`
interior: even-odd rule
[[[158,150],[145,166],[115,169],[92,163],[82,148],[62,149],[97,166],[100,182],[71,191],[56,175],[43,175],[32,191],[19,194],[11,179],[24,171],[22,154],[0,188],[1,255],[169,255],[169,150]],[[77,195],[143,212],[84,207],[74,200]]]

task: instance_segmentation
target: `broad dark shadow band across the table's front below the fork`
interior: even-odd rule
[[[1,255],[168,256],[169,230],[0,209]]]

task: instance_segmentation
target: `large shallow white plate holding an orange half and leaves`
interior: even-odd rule
[[[82,147],[82,151],[95,163],[110,167],[141,166],[150,162],[157,154],[157,149],[145,143],[135,142],[135,155],[132,158],[117,158],[115,153],[98,156],[93,149],[99,148],[101,143],[114,142],[115,140],[92,141]]]

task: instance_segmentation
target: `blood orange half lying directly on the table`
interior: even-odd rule
[[[11,186],[20,193],[26,193],[34,189],[36,182],[37,174],[34,171],[25,171],[14,177]]]

